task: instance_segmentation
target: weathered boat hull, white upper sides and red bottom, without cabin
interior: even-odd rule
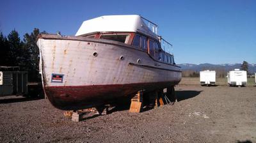
[[[95,107],[181,79],[179,66],[116,41],[45,34],[37,44],[45,94],[62,110]]]

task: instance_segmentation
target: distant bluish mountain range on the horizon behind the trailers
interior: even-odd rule
[[[184,63],[184,64],[177,64],[177,65],[182,68],[182,71],[193,70],[196,72],[200,72],[202,70],[221,69],[221,70],[225,70],[226,72],[228,72],[230,70],[234,70],[235,68],[241,69],[242,64],[239,64],[239,63],[236,63],[236,64],[209,64],[209,63],[189,64],[189,63]],[[256,64],[248,64],[248,72],[249,73],[256,72]]]

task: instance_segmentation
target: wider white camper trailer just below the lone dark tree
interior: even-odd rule
[[[245,86],[247,84],[247,73],[244,70],[229,71],[227,77],[230,86]]]

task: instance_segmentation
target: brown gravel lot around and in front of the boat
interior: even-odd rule
[[[45,99],[0,98],[0,142],[256,142],[256,87],[175,87],[174,105],[76,123]]]

